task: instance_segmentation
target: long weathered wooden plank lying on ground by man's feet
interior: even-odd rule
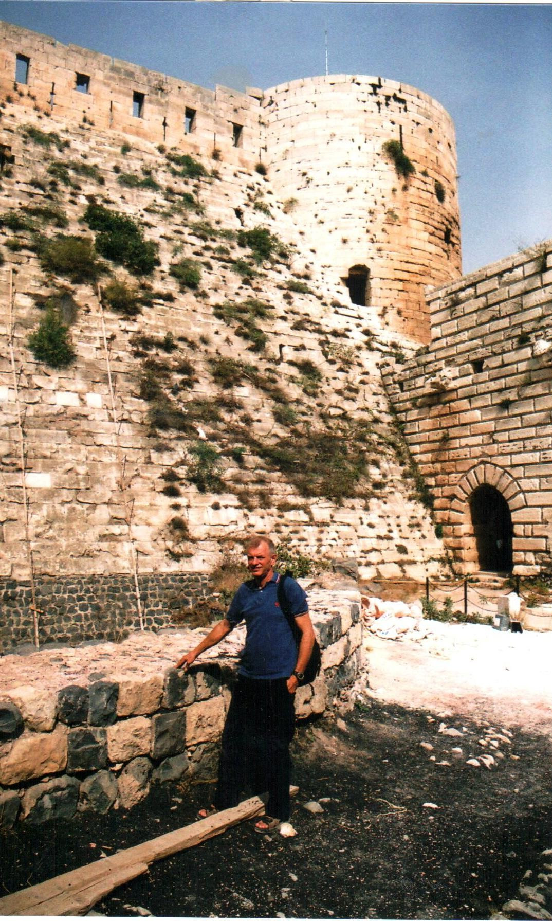
[[[292,796],[297,787],[290,787]],[[85,867],[69,870],[52,880],[29,886],[0,899],[0,915],[84,915],[99,899],[123,882],[145,873],[149,864],[222,834],[238,822],[264,812],[263,797],[251,797],[233,809],[215,812],[142,845],[102,857]]]

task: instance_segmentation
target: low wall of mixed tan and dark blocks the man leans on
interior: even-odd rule
[[[309,602],[322,670],[297,692],[300,718],[331,708],[362,665],[360,594],[309,589]],[[245,630],[176,670],[204,633],[0,659],[0,827],[129,809],[152,783],[213,777]]]

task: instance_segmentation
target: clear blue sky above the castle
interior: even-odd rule
[[[203,87],[385,76],[456,126],[464,272],[552,238],[552,6],[0,2],[0,18]]]

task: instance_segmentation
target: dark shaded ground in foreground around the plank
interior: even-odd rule
[[[459,719],[447,726],[461,737],[443,735],[427,713],[373,702],[338,723],[301,727],[293,742],[296,837],[263,838],[244,823],[153,864],[96,911],[489,918],[552,843],[550,743],[513,732],[491,769],[475,768],[466,759],[482,752],[489,727]],[[190,794],[156,787],[130,811],[19,825],[4,841],[4,892],[188,824],[211,794],[208,785]],[[303,808],[320,799],[323,813]]]

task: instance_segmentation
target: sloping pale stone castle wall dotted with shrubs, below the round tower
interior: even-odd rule
[[[32,49],[17,47],[29,52],[30,75]],[[13,67],[16,52],[10,53]],[[73,600],[80,606],[75,640],[77,634],[98,636],[94,615],[116,586],[124,599],[118,596],[113,607],[104,634],[110,637],[122,627],[123,612],[124,628],[136,624],[138,598],[145,623],[157,624],[163,588],[170,584],[176,591],[185,575],[212,571],[251,530],[291,540],[315,559],[355,557],[363,578],[436,575],[443,544],[397,451],[378,369],[381,357],[403,341],[382,326],[374,309],[343,297],[346,289],[334,283],[297,232],[270,173],[254,169],[258,155],[252,165],[238,167],[233,157],[242,156],[239,150],[213,161],[209,144],[206,153],[195,154],[203,174],[182,179],[167,148],[128,135],[132,143],[123,152],[126,134],[75,121],[71,111],[62,118],[55,106],[47,113],[29,97],[29,88],[10,87],[0,120],[0,142],[12,161],[0,181],[0,602],[10,615],[3,624],[6,645],[33,639],[31,567],[40,641],[56,638],[54,622],[60,635],[67,634]],[[29,126],[41,140],[55,135],[56,143],[34,143],[26,136]],[[193,152],[187,145],[188,135],[178,151]],[[66,169],[70,184],[53,178],[52,169],[56,175]],[[147,176],[156,188],[121,185],[127,176]],[[182,196],[195,203],[189,210],[178,207]],[[83,216],[91,200],[140,222],[145,239],[159,247],[160,264],[145,279],[112,263],[100,276],[100,289],[114,274],[148,295],[136,316],[110,310],[96,285],[46,274],[32,234],[17,229],[17,220],[53,208],[66,218],[66,233],[90,236]],[[9,226],[10,216],[16,228]],[[59,232],[32,219],[45,239]],[[248,256],[236,242],[242,224],[269,228],[289,248],[289,258],[255,265],[252,278],[237,274],[236,262]],[[201,266],[200,289],[181,289],[170,274],[182,256]],[[70,366],[53,369],[35,359],[29,333],[37,329],[45,298],[60,290],[75,307],[70,335],[76,357]],[[239,307],[247,297],[270,308],[261,324],[267,346],[260,352],[250,351],[236,323],[217,316],[222,303]],[[144,340],[149,344],[143,348]],[[222,358],[249,365],[230,388],[213,379],[213,362]],[[167,376],[167,396],[179,412],[187,413],[190,402],[195,406],[197,427],[185,434],[155,429],[151,402],[141,392],[146,361]],[[308,393],[298,369],[305,361],[320,378]],[[182,364],[192,368],[187,386],[178,371]],[[366,423],[362,493],[341,502],[301,495],[249,449],[247,437],[263,444],[289,437],[287,417],[292,426],[315,430],[333,419]],[[188,476],[190,448],[200,437],[221,463],[221,483],[213,491],[201,492]],[[242,452],[237,459],[236,449]],[[93,598],[96,577],[99,600]],[[189,594],[183,591],[183,600]]]

